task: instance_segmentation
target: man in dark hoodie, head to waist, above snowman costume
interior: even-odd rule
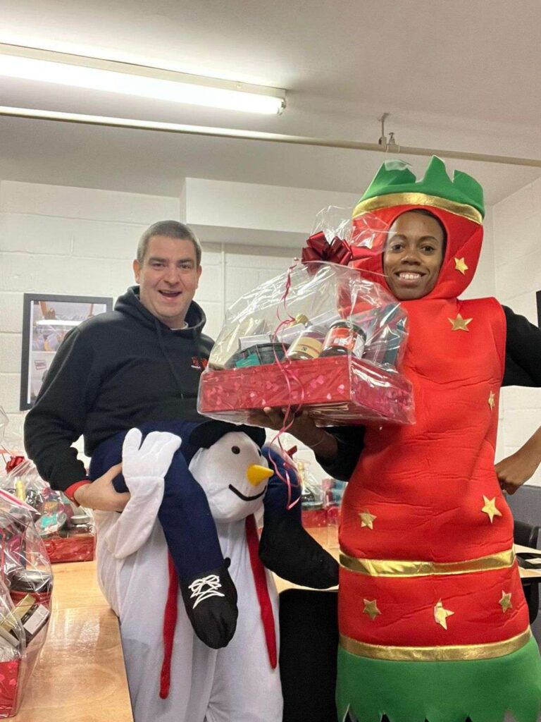
[[[193,301],[201,245],[188,226],[162,221],[144,232],[133,261],[139,287],[115,310],[67,334],[25,419],[25,447],[53,489],[92,509],[122,510],[111,469],[92,484],[72,444],[87,456],[119,431],[149,421],[202,420],[198,383],[212,341]]]

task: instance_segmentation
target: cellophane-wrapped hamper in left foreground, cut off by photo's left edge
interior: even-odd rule
[[[50,619],[53,574],[35,518],[0,490],[0,718],[17,713]]]

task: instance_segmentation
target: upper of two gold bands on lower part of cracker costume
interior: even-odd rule
[[[488,554],[487,557],[465,562],[415,562],[392,559],[363,559],[348,557],[340,552],[340,565],[346,569],[371,577],[426,577],[438,574],[468,574],[511,567],[515,561],[514,549]]]

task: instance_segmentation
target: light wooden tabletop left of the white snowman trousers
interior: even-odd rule
[[[133,722],[118,619],[95,562],[53,565],[53,609],[15,722]]]

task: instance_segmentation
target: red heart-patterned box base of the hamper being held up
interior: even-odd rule
[[[414,422],[411,384],[403,375],[346,355],[201,375],[201,414],[245,422],[251,409],[289,404],[309,409],[320,425]]]

